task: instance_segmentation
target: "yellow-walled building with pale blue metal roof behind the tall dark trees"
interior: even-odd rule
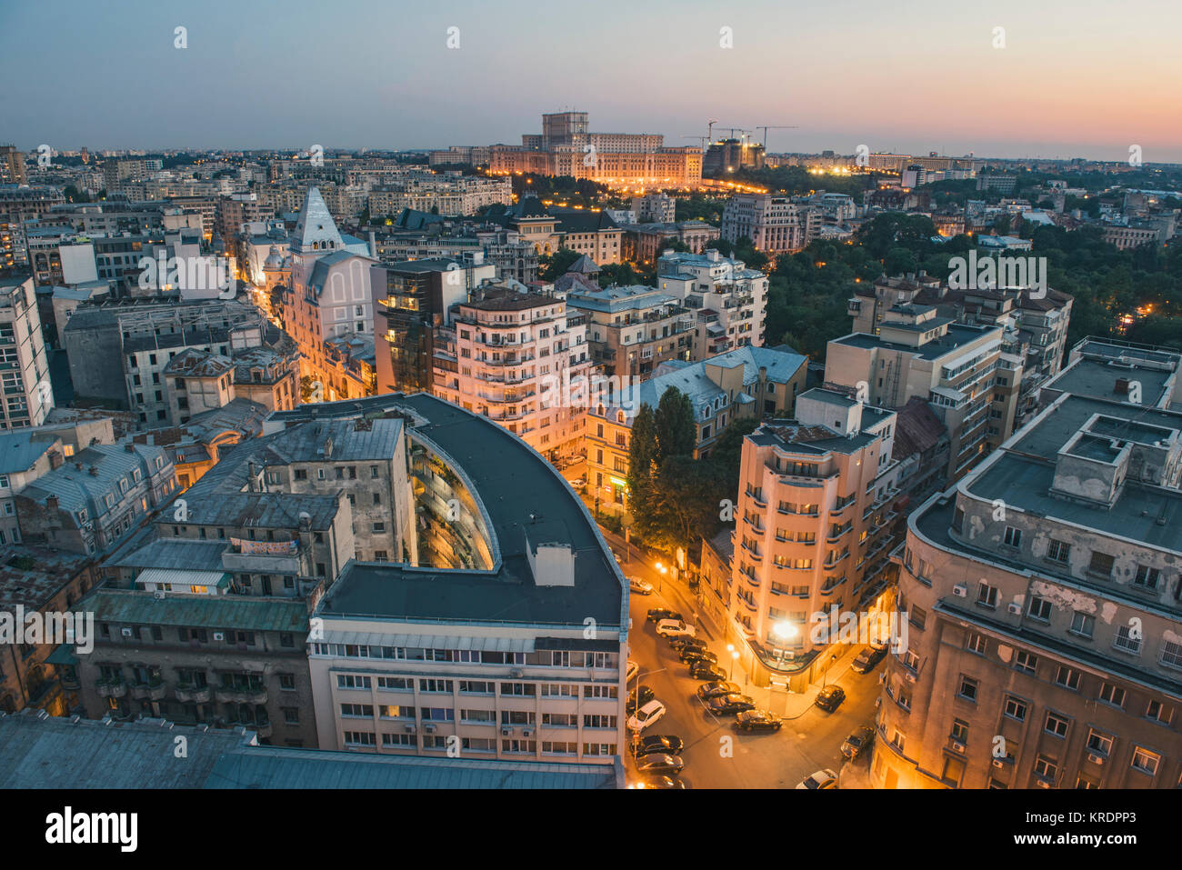
[[[654,410],[674,388],[694,407],[695,455],[706,456],[735,420],[791,415],[804,391],[808,359],[787,346],[746,346],[696,363],[669,361],[652,377],[621,384],[587,409],[587,492],[596,508],[628,509],[629,448],[641,405]]]

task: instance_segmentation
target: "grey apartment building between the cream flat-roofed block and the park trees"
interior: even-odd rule
[[[1007,422],[1012,430],[1038,409],[1039,388],[1059,372],[1073,304],[1071,296],[1051,287],[950,290],[937,278],[920,272],[883,275],[871,287],[860,288],[850,299],[850,313],[855,332],[876,336],[884,318],[898,319],[892,311],[895,306],[908,305],[931,306],[939,317],[957,323],[1001,327],[1002,350],[1022,361],[1015,416]]]

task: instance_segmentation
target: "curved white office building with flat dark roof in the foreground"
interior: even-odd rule
[[[488,420],[426,395],[378,401],[407,415],[431,566],[355,561],[320,600],[320,748],[613,764],[628,592],[586,507]]]

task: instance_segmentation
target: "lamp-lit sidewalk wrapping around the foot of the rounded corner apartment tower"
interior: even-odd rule
[[[621,557],[625,554],[624,538],[622,535],[615,534],[603,526],[599,527],[603,533],[604,540],[611,546],[612,550],[617,551]],[[649,551],[645,547],[641,547],[635,543],[630,545],[631,547],[631,560],[621,561],[621,569],[625,574],[636,573],[644,574],[649,572],[655,573],[652,567],[654,563],[662,561],[668,563],[669,557],[664,553],[656,553]],[[723,626],[720,626],[714,622],[714,618],[704,612],[699,604],[696,597],[689,591],[688,585],[683,580],[674,580],[669,576],[662,576],[660,578],[661,591],[656,595],[658,598],[663,598],[665,603],[673,608],[680,610],[684,613],[688,619],[696,622],[699,628],[699,636],[707,642],[707,648],[710,649],[719,657],[719,667],[723,670],[730,671],[729,662],[730,654],[726,648],[727,632]],[[824,675],[824,684],[829,686],[831,683],[838,682],[843,676],[845,676],[853,660],[858,657],[858,652],[862,650],[859,644],[851,644],[849,648],[839,652],[839,658],[833,662],[829,671]],[[804,715],[810,707],[812,707],[813,701],[817,700],[817,694],[821,689],[821,683],[810,683],[805,692],[787,692],[784,687],[779,686],[753,686],[747,677],[746,673],[734,673],[732,682],[738,683],[741,687],[741,692],[745,695],[751,695],[760,709],[769,710],[777,715],[785,719],[798,719]]]

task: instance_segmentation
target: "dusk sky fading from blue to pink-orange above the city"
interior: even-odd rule
[[[797,128],[769,151],[1182,162],[1180,34],[1180,0],[0,0],[0,142],[520,144],[577,109],[667,145],[715,118]]]

